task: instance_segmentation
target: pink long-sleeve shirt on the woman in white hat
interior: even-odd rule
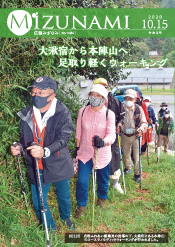
[[[115,114],[103,106],[99,111],[93,112],[91,105],[86,106],[83,116],[82,112],[84,107],[79,110],[77,127],[76,127],[76,139],[80,140],[79,150],[77,152],[77,159],[86,163],[93,158],[93,164],[95,165],[95,148],[93,146],[93,137],[98,135],[109,145],[99,148],[97,155],[97,167],[102,169],[111,161],[111,145],[116,138],[115,133]]]

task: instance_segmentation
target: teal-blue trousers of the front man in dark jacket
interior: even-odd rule
[[[51,228],[51,230],[56,230],[56,225],[53,220],[51,211],[49,209],[49,206],[47,204],[47,195],[50,188],[50,183],[43,184],[43,171],[40,171],[40,180],[41,180],[41,187],[43,192],[43,200],[44,200],[44,206],[46,209],[46,221],[47,221],[47,227],[48,229]],[[37,176],[36,176],[37,177]],[[69,181],[70,179],[66,179],[63,181],[59,181],[54,183],[56,187],[56,195],[57,200],[59,204],[59,213],[62,220],[66,220],[70,217],[71,213],[71,202],[70,202],[70,191],[69,191]],[[38,216],[38,219],[40,223],[44,225],[44,219],[43,219],[43,213],[42,211],[42,205],[41,205],[41,198],[39,193],[39,185],[38,185],[38,177],[37,177],[37,184],[31,185],[32,190],[32,200],[33,200],[33,207],[35,209],[35,212]]]

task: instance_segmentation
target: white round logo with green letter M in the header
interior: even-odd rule
[[[7,26],[14,34],[24,35],[32,26],[32,17],[27,11],[15,10],[8,16]]]

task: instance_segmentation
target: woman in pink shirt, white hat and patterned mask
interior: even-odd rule
[[[88,99],[90,104],[79,110],[76,126],[76,151],[78,160],[78,181],[76,200],[78,203],[76,218],[86,211],[88,186],[92,168],[95,166],[95,148],[97,155],[97,204],[105,206],[108,198],[108,184],[111,162],[111,144],[114,143],[115,114],[107,110],[107,90],[102,85],[93,85]]]

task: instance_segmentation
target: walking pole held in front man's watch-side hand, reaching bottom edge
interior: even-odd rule
[[[38,144],[36,144],[36,142],[32,142],[31,146],[34,146],[34,145],[38,145]],[[35,158],[36,173],[37,173],[37,177],[38,177],[39,193],[40,193],[41,206],[42,206],[41,212],[43,213],[44,225],[45,225],[45,229],[46,229],[47,247],[51,247],[50,240],[49,240],[48,228],[47,228],[47,220],[46,220],[46,211],[47,211],[47,209],[44,206],[43,192],[42,192],[42,187],[41,187],[41,179],[40,179],[40,174],[39,174],[38,160],[39,159]]]

